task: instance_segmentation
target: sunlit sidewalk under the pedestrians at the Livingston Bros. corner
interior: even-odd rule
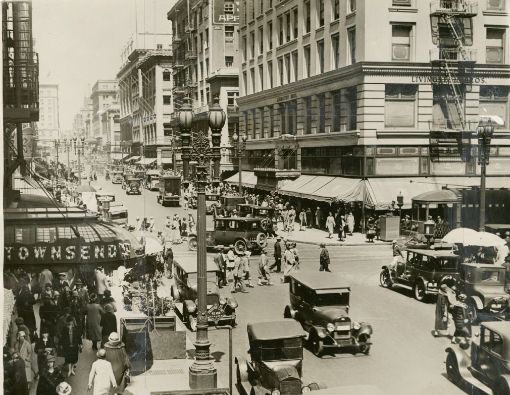
[[[338,241],[338,232],[331,235],[331,239],[328,239],[326,230],[319,230],[315,228],[303,228],[305,230],[299,230],[299,224],[296,222],[292,235],[287,235],[287,232],[283,230],[283,224],[278,223],[278,230],[276,234],[281,236],[282,240],[289,242],[302,243],[302,244],[314,244],[319,245],[324,243],[326,246],[384,246],[390,245],[391,242],[383,242],[374,239],[374,243],[369,243],[364,233],[353,233],[352,236],[347,235],[344,242]]]

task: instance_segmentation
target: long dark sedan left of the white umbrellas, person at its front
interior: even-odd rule
[[[407,259],[398,261],[396,270],[390,265],[382,266],[379,281],[385,288],[398,285],[413,289],[416,300],[423,302],[427,296],[437,295],[443,282],[455,282],[460,259],[446,250],[408,249]]]

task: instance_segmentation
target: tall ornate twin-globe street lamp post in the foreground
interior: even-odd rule
[[[206,185],[208,167],[213,160],[213,182],[219,182],[221,129],[225,124],[225,112],[219,106],[217,97],[213,100],[208,114],[211,128],[211,142],[200,130],[191,144],[193,110],[186,99],[177,113],[181,129],[183,182],[189,182],[189,161],[195,161],[197,178],[197,296],[198,315],[196,323],[195,361],[189,368],[189,385],[192,389],[216,388],[218,375],[216,367],[209,360],[211,344],[207,336],[207,251],[206,251]]]

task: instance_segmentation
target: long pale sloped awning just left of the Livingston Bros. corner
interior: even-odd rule
[[[334,201],[362,201],[363,181],[360,178],[301,175],[280,189],[285,195],[305,199]]]

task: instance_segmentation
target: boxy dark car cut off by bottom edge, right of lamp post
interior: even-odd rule
[[[241,395],[301,395],[325,388],[302,382],[303,338],[294,320],[252,322],[247,326],[251,360],[236,356],[237,389]]]

